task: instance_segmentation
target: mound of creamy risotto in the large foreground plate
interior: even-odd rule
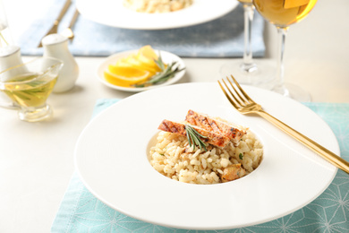
[[[156,145],[150,148],[149,162],[166,177],[191,184],[217,184],[250,174],[263,156],[260,140],[248,128],[242,128],[240,142],[228,142],[224,148],[206,142],[206,150],[192,144],[187,136],[160,131]]]

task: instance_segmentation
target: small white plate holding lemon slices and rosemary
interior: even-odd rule
[[[123,58],[125,56],[129,56],[131,54],[137,53],[138,50],[129,50],[129,51],[125,51],[122,53],[117,53],[115,55],[112,56],[108,56],[106,57],[106,59],[100,64],[98,65],[98,69],[97,69],[97,77],[99,82],[102,82],[103,84],[105,84],[106,86],[113,88],[115,90],[120,90],[120,91],[130,91],[130,92],[139,92],[139,91],[147,91],[149,89],[153,89],[153,88],[158,88],[158,87],[162,87],[162,86],[166,86],[166,85],[170,85],[174,82],[178,82],[180,79],[182,79],[184,73],[185,73],[185,69],[181,72],[178,72],[174,75],[174,77],[172,79],[169,79],[167,82],[158,84],[158,85],[152,85],[149,87],[144,87],[144,88],[128,88],[128,87],[121,87],[121,86],[117,86],[114,85],[110,82],[106,82],[106,79],[104,77],[104,71],[106,71],[108,65],[114,65],[120,58]],[[184,62],[183,60],[179,57],[176,56],[172,53],[160,50],[159,52],[156,51],[157,55],[158,53],[161,54],[161,58],[163,60],[164,63],[166,64],[170,64],[172,62],[177,62],[177,65],[180,69],[184,68]]]

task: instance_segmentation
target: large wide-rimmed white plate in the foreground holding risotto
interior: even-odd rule
[[[243,88],[270,114],[339,154],[336,136],[310,108],[274,92]],[[233,182],[206,186],[160,175],[147,159],[149,140],[163,119],[183,120],[190,108],[249,126],[264,144],[260,167]],[[239,114],[217,82],[176,84],[117,102],[83,130],[75,165],[103,203],[180,229],[233,229],[275,220],[318,197],[337,170],[266,120]]]

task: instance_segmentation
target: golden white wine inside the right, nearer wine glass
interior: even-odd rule
[[[253,0],[257,11],[277,27],[286,28],[300,22],[318,0]]]

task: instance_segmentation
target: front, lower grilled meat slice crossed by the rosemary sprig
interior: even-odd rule
[[[230,141],[228,137],[222,134],[209,132],[195,125],[191,125],[191,126],[199,134],[207,137],[207,138],[201,138],[202,142],[208,142],[209,144],[224,148],[226,147],[226,144]],[[183,136],[187,135],[185,131],[185,123],[163,120],[163,122],[158,126],[158,129],[162,131],[174,133],[174,134],[181,134]]]

